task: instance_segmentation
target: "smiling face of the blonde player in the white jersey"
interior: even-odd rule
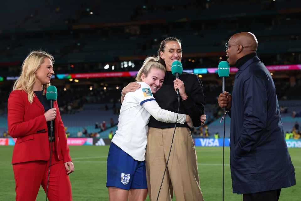
[[[148,76],[145,76],[145,74],[142,73],[141,80],[151,87],[152,93],[156,93],[160,87],[162,87],[164,77],[165,72],[163,70],[152,67]]]

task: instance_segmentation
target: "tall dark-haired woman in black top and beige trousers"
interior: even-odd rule
[[[157,60],[165,66],[166,76],[161,90],[154,94],[154,97],[162,109],[177,112],[176,90],[179,89],[181,96],[180,113],[188,114],[193,121],[193,125],[198,127],[202,125],[202,121],[206,120],[203,85],[197,75],[190,73],[183,72],[180,79],[175,79],[175,76],[171,73],[171,65],[174,61],[181,61],[181,59],[180,40],[175,37],[164,39],[160,44]],[[130,83],[123,88],[121,93],[125,95],[139,87],[138,83]],[[148,126],[145,159],[148,194],[150,200],[156,200],[168,159],[175,124],[160,122],[151,117]],[[175,193],[177,200],[203,200],[196,151],[190,126],[187,124],[177,124],[169,163],[158,200],[172,200],[173,193]]]

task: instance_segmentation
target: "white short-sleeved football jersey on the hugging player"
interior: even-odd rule
[[[155,101],[152,91],[145,82],[137,82],[141,87],[128,92],[124,97],[118,118],[118,130],[112,142],[135,160],[145,160],[148,122],[151,114],[142,103]]]

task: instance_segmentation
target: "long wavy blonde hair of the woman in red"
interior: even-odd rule
[[[28,101],[30,103],[33,102],[35,97],[33,92],[33,86],[36,81],[35,71],[43,64],[44,58],[49,58],[52,61],[52,64],[54,63],[54,58],[49,53],[41,50],[30,52],[22,64],[20,77],[13,85],[13,90],[24,90],[27,93]],[[50,86],[50,84],[43,85],[43,94],[45,94],[48,86]]]

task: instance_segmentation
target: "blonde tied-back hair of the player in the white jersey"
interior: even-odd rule
[[[138,71],[135,80],[137,82],[142,82],[142,80],[141,80],[142,73],[144,73],[144,75],[147,77],[149,71],[152,68],[156,68],[156,69],[162,70],[162,71],[164,71],[164,73],[166,72],[166,69],[165,69],[164,65],[160,64],[159,61],[156,60],[156,58],[154,58],[154,57],[148,57],[148,58],[146,58],[144,60],[144,62],[142,64],[142,67]]]

